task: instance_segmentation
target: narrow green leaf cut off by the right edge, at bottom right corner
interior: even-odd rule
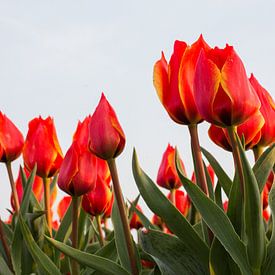
[[[262,268],[262,274],[275,274],[275,185],[269,192],[269,206],[272,213],[272,234],[267,245],[267,256]]]

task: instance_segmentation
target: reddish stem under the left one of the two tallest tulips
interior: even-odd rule
[[[203,192],[208,196],[208,188],[202,160],[201,147],[199,143],[197,124],[188,125],[188,129],[191,136],[191,148],[194,160],[196,181],[200,188],[203,190]]]

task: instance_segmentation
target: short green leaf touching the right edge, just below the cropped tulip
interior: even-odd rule
[[[269,173],[275,163],[275,144],[266,149],[259,157],[253,167],[257,183],[259,185],[260,193],[262,192],[264,185],[268,179]]]

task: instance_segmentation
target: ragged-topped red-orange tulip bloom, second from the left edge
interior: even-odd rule
[[[51,117],[39,117],[29,122],[23,158],[29,171],[37,164],[36,173],[42,178],[52,177],[59,171],[63,155]]]

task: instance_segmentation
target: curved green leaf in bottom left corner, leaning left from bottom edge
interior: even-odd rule
[[[39,248],[21,215],[19,216],[19,224],[24,242],[39,268],[46,274],[61,274],[50,258]]]

